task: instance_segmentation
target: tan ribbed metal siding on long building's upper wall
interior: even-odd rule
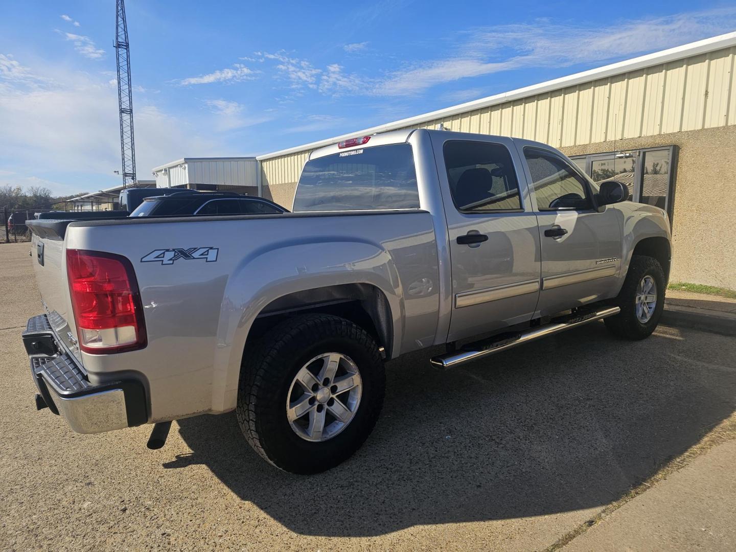
[[[433,118],[412,128],[576,146],[736,124],[736,47]],[[263,185],[295,183],[309,150],[263,160]]]

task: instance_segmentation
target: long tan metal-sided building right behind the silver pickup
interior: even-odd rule
[[[594,180],[668,210],[672,279],[736,289],[736,32],[259,156],[263,196],[291,208],[309,152],[411,128],[556,146]]]

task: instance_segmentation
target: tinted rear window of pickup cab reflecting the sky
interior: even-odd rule
[[[294,197],[294,212],[419,207],[409,144],[351,149],[308,161]]]

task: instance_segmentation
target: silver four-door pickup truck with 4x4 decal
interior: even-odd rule
[[[647,337],[670,224],[628,197],[545,144],[406,130],[312,152],[293,213],[30,221],[37,406],[155,424],[149,447],[236,410],[276,467],[327,470],[372,431],[386,360],[444,345],[449,369],[600,319]]]

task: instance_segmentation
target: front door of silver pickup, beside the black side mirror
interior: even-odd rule
[[[518,145],[542,244],[539,316],[611,297],[621,266],[620,211],[595,210],[590,182],[558,152]]]

